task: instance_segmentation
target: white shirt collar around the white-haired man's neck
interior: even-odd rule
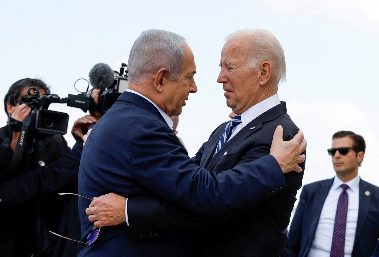
[[[279,94],[274,94],[269,98],[259,102],[258,104],[253,105],[243,113],[241,113],[241,121],[243,127],[251,122],[253,119],[257,118],[259,115],[264,113],[265,111],[270,110],[274,106],[280,104]]]

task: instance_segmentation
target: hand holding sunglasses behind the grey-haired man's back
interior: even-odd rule
[[[95,221],[94,226],[114,226],[126,221],[126,198],[114,193],[102,195],[94,200],[86,209],[90,221]]]

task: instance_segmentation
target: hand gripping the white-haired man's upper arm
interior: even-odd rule
[[[301,167],[298,164],[305,161],[305,155],[300,154],[305,151],[306,147],[307,140],[304,139],[304,135],[300,130],[290,141],[283,141],[283,128],[282,126],[277,126],[270,154],[275,157],[283,173],[292,170],[301,172]]]

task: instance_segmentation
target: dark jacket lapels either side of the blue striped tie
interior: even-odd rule
[[[205,157],[206,157],[207,162],[209,161],[209,164],[207,164],[207,162],[204,163],[204,165],[207,167],[207,170],[213,169],[213,167],[215,167],[215,165],[222,158],[222,156],[224,156],[225,152],[229,152],[234,147],[236,147],[238,144],[240,144],[240,142],[242,142],[244,139],[246,139],[248,136],[250,136],[251,134],[257,132],[260,128],[262,128],[262,124],[264,122],[272,121],[273,119],[277,118],[278,116],[280,116],[286,112],[287,112],[287,108],[286,108],[285,102],[281,102],[280,104],[274,106],[273,108],[269,109],[268,111],[265,111],[260,116],[253,119],[251,122],[249,122],[247,125],[245,125],[235,136],[233,136],[232,139],[230,139],[216,153],[215,156],[213,156],[213,153],[215,153],[215,149],[216,149],[218,141],[222,135],[222,132],[224,131],[226,125],[228,124],[228,122],[226,122],[224,125],[222,125],[220,127],[222,129],[219,129],[217,131],[217,133],[214,133],[214,135],[211,138],[211,141],[208,141],[207,147],[209,146],[209,151],[207,151],[207,156],[205,156]],[[212,151],[212,149],[213,149],[213,151]],[[205,150],[204,150],[204,152],[205,152]],[[212,158],[212,156],[213,156],[213,158]]]

